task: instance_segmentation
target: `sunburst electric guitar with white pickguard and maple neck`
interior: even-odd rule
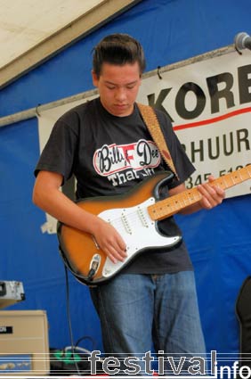
[[[173,216],[187,206],[199,202],[196,187],[181,194],[159,200],[159,189],[173,178],[160,172],[136,185],[130,192],[117,196],[80,200],[77,205],[109,222],[126,242],[127,257],[113,263],[101,251],[93,235],[62,223],[58,224],[61,257],[76,278],[87,285],[97,285],[116,276],[119,271],[144,251],[166,251],[181,243],[182,235],[163,235],[158,220]],[[215,179],[212,185],[228,189],[251,178],[251,165]]]

